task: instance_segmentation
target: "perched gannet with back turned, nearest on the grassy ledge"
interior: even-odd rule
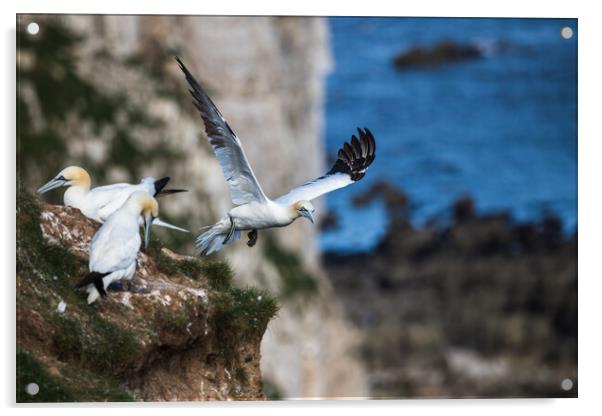
[[[111,282],[131,280],[141,240],[139,219],[144,222],[144,245],[148,245],[151,224],[159,215],[157,200],[146,191],[135,191],[98,229],[90,244],[90,273],[77,287],[86,286],[88,303],[106,296]]]

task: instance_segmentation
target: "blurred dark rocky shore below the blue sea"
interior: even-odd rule
[[[577,397],[576,235],[470,198],[451,223],[416,227],[401,191],[377,183],[355,202],[373,198],[390,218],[381,242],[325,267],[366,334],[374,397]]]

